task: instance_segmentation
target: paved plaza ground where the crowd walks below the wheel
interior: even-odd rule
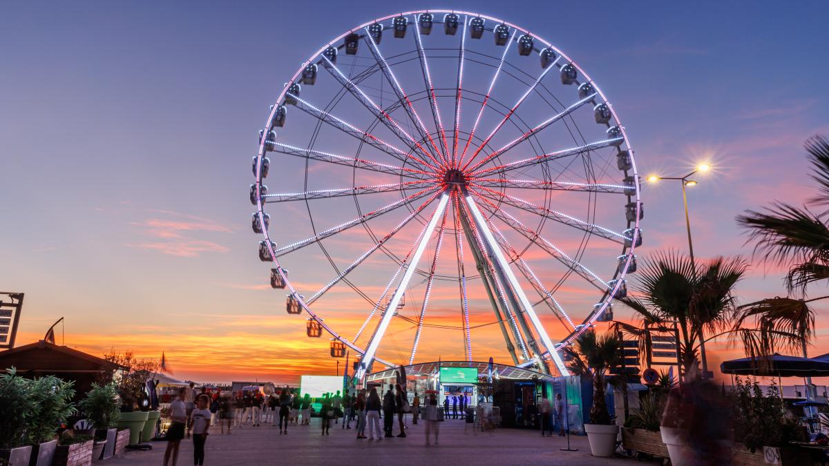
[[[500,429],[490,432],[464,432],[462,420],[440,424],[439,446],[424,445],[424,425],[412,425],[405,439],[358,440],[356,431],[332,425],[331,434],[320,434],[320,420],[311,425],[291,425],[287,435],[270,425],[245,426],[233,434],[219,434],[211,427],[206,444],[205,464],[400,464],[464,466],[467,464],[642,464],[632,459],[600,459],[590,455],[587,437],[571,436],[570,444],[579,451],[565,448],[563,437],[541,437],[535,430]],[[397,427],[395,425],[395,433]],[[114,464],[153,464],[163,462],[166,444],[154,442],[150,452],[128,452]],[[182,440],[178,464],[191,464],[192,442]]]

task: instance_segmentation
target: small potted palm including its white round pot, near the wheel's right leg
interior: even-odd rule
[[[570,356],[568,368],[575,376],[589,377],[593,382],[593,406],[590,423],[584,425],[590,451],[594,456],[613,456],[619,426],[610,420],[608,405],[604,400],[605,389],[611,378],[608,371],[621,362],[621,343],[615,333],[596,335],[593,329],[575,339],[574,347],[566,347]]]

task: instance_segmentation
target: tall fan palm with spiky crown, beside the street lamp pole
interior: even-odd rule
[[[676,323],[679,330],[681,365],[686,371],[697,366],[697,352],[705,330],[730,327],[734,316],[734,286],[748,265],[739,256],[717,257],[695,264],[689,256],[673,250],[658,251],[644,260],[636,290],[641,298],[620,299],[646,324]],[[646,332],[635,326],[619,326],[638,337],[647,348]]]

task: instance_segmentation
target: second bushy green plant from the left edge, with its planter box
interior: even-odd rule
[[[29,381],[29,397],[35,410],[28,422],[27,443],[32,445],[32,466],[51,466],[57,448],[56,432],[75,414],[72,397],[75,382],[56,376],[38,377]]]

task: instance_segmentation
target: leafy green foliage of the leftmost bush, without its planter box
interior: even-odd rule
[[[17,376],[14,367],[0,376],[0,449],[25,444],[26,426],[36,410],[29,396],[30,382]]]

